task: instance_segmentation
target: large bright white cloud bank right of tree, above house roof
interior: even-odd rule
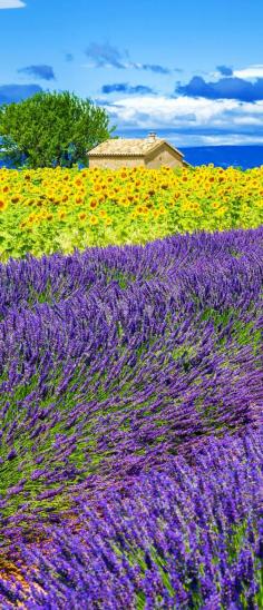
[[[263,144],[263,101],[146,95],[107,100],[106,106],[118,129],[173,131],[178,146]]]

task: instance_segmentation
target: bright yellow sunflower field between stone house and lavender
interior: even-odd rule
[[[263,166],[0,169],[0,260],[263,224]]]

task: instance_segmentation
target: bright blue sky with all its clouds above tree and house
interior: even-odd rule
[[[263,144],[263,0],[0,0],[0,102],[70,90],[118,134]]]

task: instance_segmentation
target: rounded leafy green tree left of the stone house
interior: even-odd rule
[[[40,91],[0,107],[0,158],[14,167],[87,166],[87,151],[114,129],[106,110],[91,100]]]

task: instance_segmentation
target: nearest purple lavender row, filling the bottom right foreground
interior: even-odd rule
[[[262,440],[211,439],[96,508],[80,494],[43,544],[10,547],[1,608],[262,608]]]

